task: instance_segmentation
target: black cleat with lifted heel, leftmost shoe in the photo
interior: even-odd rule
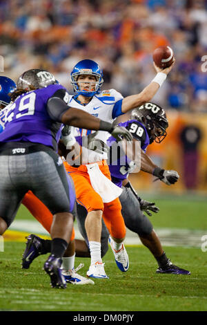
[[[41,255],[43,239],[35,234],[30,234],[27,239],[28,241],[26,242],[26,249],[23,252],[21,268],[29,268],[32,261]]]

